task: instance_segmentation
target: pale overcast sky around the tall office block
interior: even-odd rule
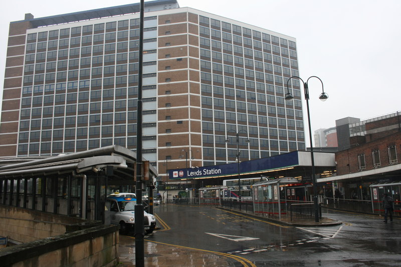
[[[297,39],[300,77],[318,76],[329,99],[321,102],[321,84],[309,82],[312,131],[335,126],[335,120],[361,120],[401,111],[397,82],[401,66],[399,0],[177,0],[190,7]],[[107,8],[133,1],[14,0],[0,16],[0,97],[10,22]],[[398,75],[397,75],[398,73]],[[303,95],[303,94],[302,94]],[[0,102],[1,105],[1,102]],[[305,128],[308,136],[306,121]],[[309,142],[307,141],[307,145]]]

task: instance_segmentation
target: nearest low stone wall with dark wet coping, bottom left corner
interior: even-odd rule
[[[2,266],[116,266],[118,226],[99,225],[0,250]]]

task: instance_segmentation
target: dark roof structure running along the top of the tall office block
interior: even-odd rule
[[[176,0],[155,0],[155,1],[145,2],[145,8],[152,8],[156,6],[165,6],[165,5],[176,5],[176,7],[178,7],[178,3]],[[88,21],[88,20],[108,18],[113,16],[121,16],[126,14],[134,14],[134,13],[139,13],[140,11],[139,9],[140,9],[140,4],[135,3],[123,6],[110,7],[110,8],[95,9],[89,11],[74,12],[64,15],[43,17],[38,19],[34,19],[33,16],[26,16],[24,21],[31,22],[33,28],[39,28],[44,26],[66,24],[71,22]],[[12,23],[20,23],[24,21],[17,21]]]

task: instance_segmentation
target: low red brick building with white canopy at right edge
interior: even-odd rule
[[[318,182],[331,183],[345,199],[359,200],[371,200],[370,185],[383,184],[377,187],[375,199],[379,200],[384,190],[388,190],[399,201],[401,113],[350,123],[349,133],[348,148],[335,156],[337,175]]]

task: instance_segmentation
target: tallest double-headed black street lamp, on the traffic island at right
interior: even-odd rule
[[[323,89],[323,82],[320,80],[319,77],[317,76],[311,76],[306,80],[306,83],[299,78],[298,76],[292,76],[288,79],[287,81],[287,94],[285,94],[285,100],[292,100],[294,99],[294,96],[290,93],[290,90],[288,89],[288,83],[292,78],[298,78],[299,80],[302,81],[304,84],[304,94],[305,94],[305,99],[306,99],[306,111],[308,114],[308,126],[309,126],[309,141],[310,141],[310,158],[311,158],[311,163],[312,163],[312,183],[313,183],[313,206],[314,206],[314,211],[315,211],[315,222],[319,222],[319,207],[317,204],[317,182],[316,182],[316,176],[315,176],[315,160],[313,157],[313,144],[312,144],[312,129],[310,126],[310,114],[309,114],[309,90],[308,90],[308,81],[310,78],[317,78],[319,79],[320,83],[322,84],[322,93],[319,96],[319,99],[322,101],[326,101],[329,96],[324,92]]]

